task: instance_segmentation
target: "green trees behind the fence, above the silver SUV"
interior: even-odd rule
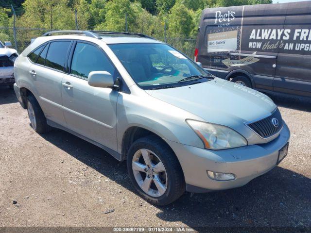
[[[0,0],[0,39],[13,41],[13,17],[17,12],[17,43],[22,50],[31,38],[48,30],[138,32],[165,40],[180,50],[194,46],[204,8],[272,3],[272,0]],[[2,8],[1,8],[2,4]],[[5,5],[5,6],[4,6]],[[18,7],[22,5],[22,7]],[[6,7],[6,8],[3,8]]]

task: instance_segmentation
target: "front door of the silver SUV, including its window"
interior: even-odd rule
[[[117,150],[116,120],[118,91],[88,85],[91,71],[117,70],[95,44],[78,41],[72,48],[68,74],[62,81],[62,100],[67,127],[110,149]]]

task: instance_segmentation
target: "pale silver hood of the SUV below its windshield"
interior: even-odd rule
[[[275,108],[266,95],[242,85],[215,78],[188,86],[147,90],[149,95],[184,109],[207,122],[241,127],[269,115]]]

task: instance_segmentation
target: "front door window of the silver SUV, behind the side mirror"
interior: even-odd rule
[[[93,45],[78,42],[73,53],[70,74],[87,78],[91,71],[108,71],[114,75],[115,68],[103,51]]]

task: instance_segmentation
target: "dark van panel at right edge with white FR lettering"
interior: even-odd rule
[[[288,40],[277,57],[274,90],[311,96],[311,4],[289,3],[284,29]]]

